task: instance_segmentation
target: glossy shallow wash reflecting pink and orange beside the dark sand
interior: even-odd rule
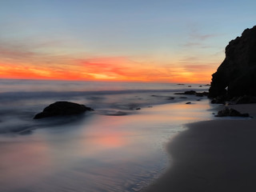
[[[166,168],[164,143],[182,130],[182,123],[210,118],[207,105],[174,103],[125,116],[94,114],[30,135],[1,137],[0,191],[139,190]]]

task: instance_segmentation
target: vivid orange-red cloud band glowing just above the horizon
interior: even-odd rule
[[[206,73],[207,72],[207,73]],[[1,78],[128,82],[209,82],[213,71],[201,65],[147,65],[127,58],[90,58],[66,65],[2,64]]]

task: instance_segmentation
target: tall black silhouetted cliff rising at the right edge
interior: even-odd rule
[[[210,98],[256,96],[256,26],[226,46],[226,58],[212,76]]]

